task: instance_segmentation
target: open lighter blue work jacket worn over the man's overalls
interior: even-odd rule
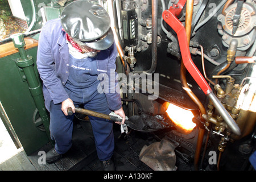
[[[115,43],[110,48],[98,52],[96,57],[98,80],[110,110],[118,110],[122,107],[118,76],[115,72],[116,57]],[[36,64],[43,81],[46,109],[49,110],[51,101],[59,104],[69,98],[64,89],[69,76],[69,50],[60,19],[49,20],[44,24],[39,36]]]

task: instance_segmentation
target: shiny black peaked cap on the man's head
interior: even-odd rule
[[[79,44],[105,50],[114,42],[109,14],[96,2],[74,1],[63,9],[60,19],[64,31]]]

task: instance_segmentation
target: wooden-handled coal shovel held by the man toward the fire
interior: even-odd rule
[[[122,122],[122,119],[115,116],[115,115],[108,115],[108,114],[98,113],[96,111],[92,111],[92,110],[88,110],[88,109],[82,109],[80,107],[76,107],[75,111],[76,111],[76,113],[90,115],[90,116],[97,117],[97,118]],[[72,109],[71,109],[71,107],[69,107],[68,108],[68,115],[72,115],[72,114],[73,114]],[[150,127],[148,127],[147,125],[144,124],[145,122],[143,122],[143,120],[144,119],[140,115],[133,115],[128,120],[126,119],[125,123],[131,129],[133,129],[135,131],[141,131],[141,132],[144,132],[144,133],[159,130],[159,129],[151,129]]]

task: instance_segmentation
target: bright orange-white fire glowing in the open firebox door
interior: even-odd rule
[[[168,116],[177,126],[185,130],[186,133],[193,130],[196,124],[192,122],[194,115],[191,111],[185,110],[169,102],[167,102],[166,106],[168,107],[166,110]]]

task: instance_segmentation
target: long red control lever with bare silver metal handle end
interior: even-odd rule
[[[165,10],[162,14],[164,21],[176,32],[179,46],[180,46],[180,52],[181,57],[183,59],[183,63],[185,65],[185,68],[187,68],[190,75],[195,79],[197,84],[200,86],[200,88],[203,90],[204,94],[209,97],[210,100],[212,100],[214,107],[217,109],[218,113],[222,116],[224,121],[228,124],[230,129],[233,131],[236,135],[241,135],[240,128],[237,126],[237,123],[234,122],[234,119],[231,117],[231,115],[228,113],[228,111],[225,109],[225,107],[221,104],[221,102],[218,100],[218,98],[213,93],[212,89],[208,85],[207,81],[203,77],[203,75],[200,73],[199,69],[196,67],[196,65],[193,63],[190,52],[189,52],[189,46],[187,42],[187,35],[185,33],[185,28],[183,24],[180,22],[179,19],[177,19],[176,15],[177,12],[180,12],[179,9],[182,9],[185,1],[179,1],[177,5],[174,7],[171,6],[169,10]]]

